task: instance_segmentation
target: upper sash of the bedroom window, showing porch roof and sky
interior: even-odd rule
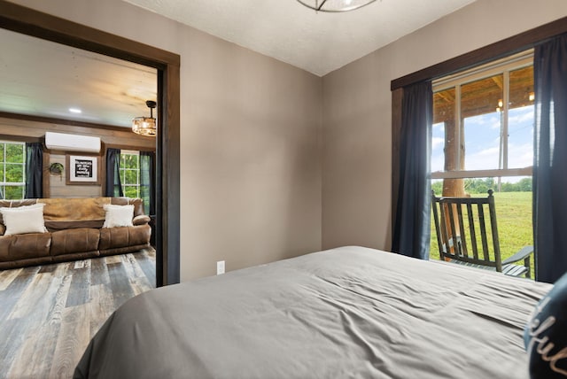
[[[532,175],[532,50],[433,83],[431,177],[462,196],[464,178]]]

